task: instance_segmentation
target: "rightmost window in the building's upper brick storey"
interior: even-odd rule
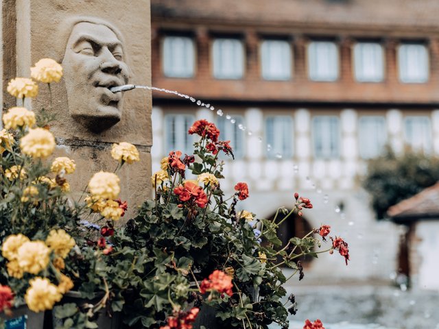
[[[425,45],[399,46],[399,79],[405,83],[423,83],[428,80],[428,51]]]

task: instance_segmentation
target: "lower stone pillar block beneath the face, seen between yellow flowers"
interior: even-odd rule
[[[53,156],[47,159],[51,162],[58,156],[67,156],[76,162],[74,173],[65,175],[71,187],[70,196],[78,201],[83,195],[88,181],[97,171],[114,172],[118,162],[111,158],[110,143],[99,143],[99,145],[84,145],[78,141],[65,141],[67,145],[58,145]],[[138,146],[139,147],[139,146]],[[134,215],[137,206],[140,206],[146,197],[150,197],[151,191],[151,156],[150,151],[139,147],[140,161],[133,164],[123,164],[117,171],[121,179],[122,201],[128,200],[128,212],[123,219],[129,219]],[[86,194],[83,195],[82,200]]]

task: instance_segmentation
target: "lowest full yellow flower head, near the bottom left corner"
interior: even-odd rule
[[[29,281],[30,287],[26,291],[27,307],[34,312],[51,310],[56,302],[62,298],[58,287],[46,278],[34,278]]]

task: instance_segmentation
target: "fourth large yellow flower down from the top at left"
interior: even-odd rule
[[[21,151],[32,158],[45,158],[52,154],[55,148],[55,138],[51,132],[43,128],[29,130],[20,140]]]

